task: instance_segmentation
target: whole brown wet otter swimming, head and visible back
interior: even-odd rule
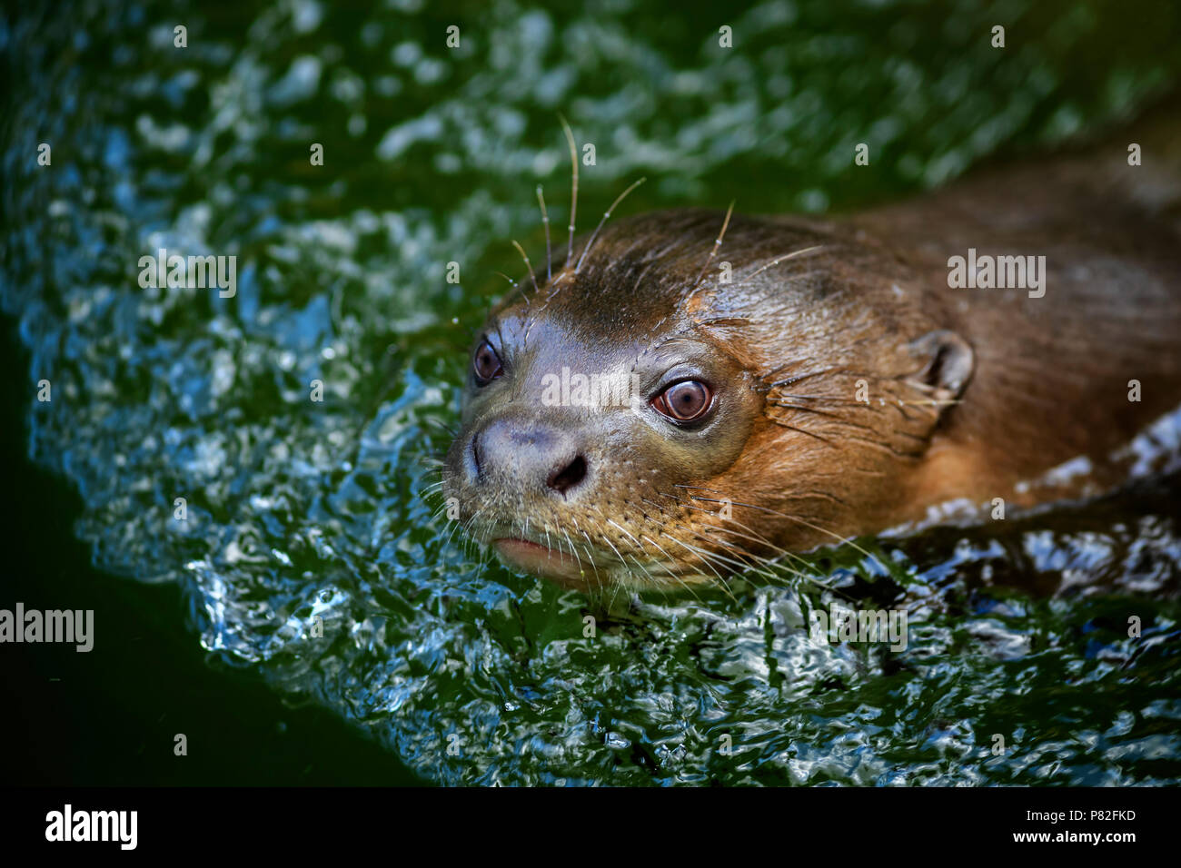
[[[572,234],[472,342],[444,495],[510,568],[677,590],[948,502],[1120,484],[1181,402],[1181,185],[1124,154],[844,218]],[[957,282],[965,257],[1032,257],[1029,286]]]

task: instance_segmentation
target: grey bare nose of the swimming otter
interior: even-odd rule
[[[559,429],[495,419],[471,438],[476,477],[501,479],[562,496],[587,475],[587,459]]]

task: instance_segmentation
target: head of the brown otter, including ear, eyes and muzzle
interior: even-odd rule
[[[722,222],[619,222],[488,316],[444,494],[509,566],[676,590],[834,541],[905,484],[966,344],[859,315],[856,256],[820,229],[735,217],[715,262]]]

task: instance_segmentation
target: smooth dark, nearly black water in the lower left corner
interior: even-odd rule
[[[105,575],[73,533],[64,479],[27,459],[28,354],[0,319],[0,608],[93,609],[102,653],[0,645],[0,783],[19,785],[412,784],[393,753],[319,707],[287,707],[249,670],[221,665],[185,631],[174,585]],[[172,753],[188,736],[188,756]]]

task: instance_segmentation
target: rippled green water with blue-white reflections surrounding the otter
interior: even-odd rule
[[[850,209],[1117,125],[1181,72],[1164,4],[677,8],[8,13],[2,302],[31,455],[79,490],[96,566],[180,585],[193,642],[431,782],[1181,782],[1176,479],[817,553],[833,592],[611,613],[436,517],[471,331],[520,276],[508,240],[542,249],[537,183],[565,222],[559,111],[595,144],[586,221],[640,175],[631,213]],[[142,289],[162,247],[235,255],[236,296]],[[834,598],[905,603],[909,645],[811,641]]]

